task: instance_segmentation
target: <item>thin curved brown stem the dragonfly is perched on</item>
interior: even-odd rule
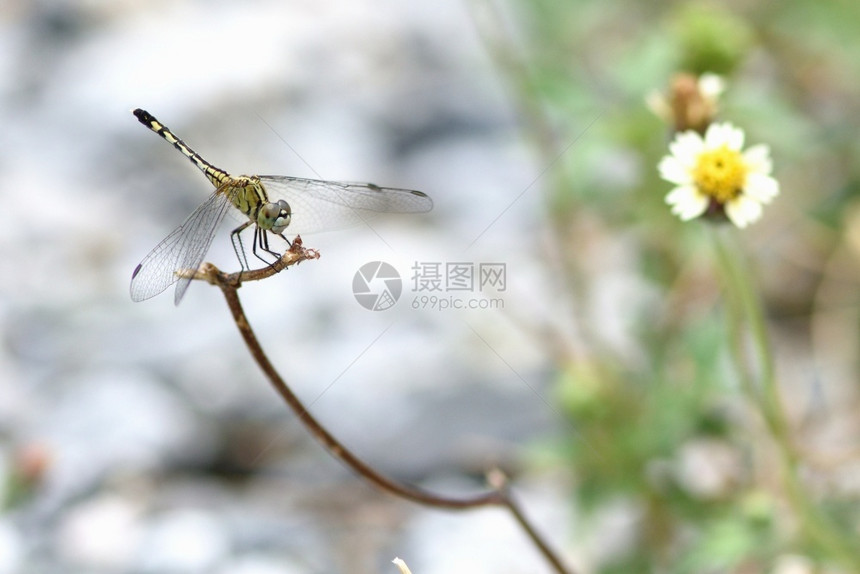
[[[514,500],[508,486],[507,478],[504,477],[500,471],[494,471],[489,475],[489,482],[493,488],[492,490],[466,498],[439,496],[414,486],[400,484],[380,474],[367,463],[359,459],[349,449],[343,446],[343,444],[341,444],[334,436],[332,436],[320,424],[320,422],[307,411],[298,397],[275,370],[275,367],[263,351],[263,348],[257,340],[257,337],[251,328],[251,324],[248,322],[248,318],[245,316],[245,312],[242,309],[242,304],[239,300],[237,290],[241,286],[242,281],[263,279],[291,265],[295,265],[306,259],[316,259],[318,257],[318,252],[312,249],[305,249],[302,247],[301,239],[297,238],[296,241],[293,242],[293,246],[290,250],[271,267],[255,271],[244,271],[242,273],[225,274],[219,271],[214,265],[206,263],[195,273],[194,278],[208,281],[209,283],[220,287],[221,292],[224,294],[224,298],[227,300],[227,305],[233,315],[236,327],[238,327],[239,333],[245,340],[245,344],[248,346],[248,350],[254,358],[254,361],[256,361],[257,365],[266,375],[266,378],[269,379],[269,382],[278,394],[281,395],[281,398],[284,399],[296,416],[298,416],[299,420],[304,424],[308,432],[320,441],[332,456],[342,461],[356,473],[364,477],[370,483],[376,485],[381,490],[419,504],[435,508],[446,508],[449,510],[465,510],[482,506],[505,507],[511,512],[511,514],[513,514],[516,521],[526,531],[529,538],[537,546],[544,558],[552,564],[553,568],[555,568],[559,574],[575,574],[573,570],[565,568],[558,556],[555,555],[546,541],[534,529],[528,518]]]

